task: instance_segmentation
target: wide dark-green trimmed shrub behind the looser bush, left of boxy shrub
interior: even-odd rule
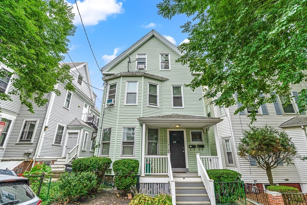
[[[78,158],[72,162],[72,171],[83,172],[90,171],[94,172],[97,176],[97,183],[95,184],[94,192],[98,190],[100,184],[103,181],[104,174],[107,168],[110,167],[112,160],[108,157],[86,157]]]

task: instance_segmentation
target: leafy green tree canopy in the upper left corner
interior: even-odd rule
[[[68,52],[68,38],[76,27],[72,24],[72,7],[64,0],[2,0],[0,2],[0,61],[13,73],[0,72],[0,77],[14,74],[14,90],[0,93],[0,100],[19,96],[21,103],[33,113],[33,104],[48,102],[46,93],[65,89],[74,91],[68,65],[60,66]]]

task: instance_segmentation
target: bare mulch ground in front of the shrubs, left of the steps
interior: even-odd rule
[[[128,205],[131,199],[127,199],[124,196],[117,196],[117,192],[115,191],[101,191],[101,193],[97,193],[95,197],[88,196],[86,198],[80,199],[77,202],[69,202],[67,205],[72,204],[80,204],[80,205],[115,205],[115,204],[122,204]]]

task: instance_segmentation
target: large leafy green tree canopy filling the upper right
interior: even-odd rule
[[[192,89],[207,86],[204,97],[217,96],[214,103],[225,107],[236,103],[237,93],[237,114],[301,83],[298,105],[307,110],[306,0],[164,0],[157,7],[164,18],[192,18],[181,26],[189,42],[178,46],[185,54],[177,60],[203,73],[188,85]],[[248,117],[255,121],[256,112]]]

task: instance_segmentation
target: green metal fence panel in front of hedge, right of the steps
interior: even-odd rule
[[[246,204],[243,182],[214,182],[216,205]]]

